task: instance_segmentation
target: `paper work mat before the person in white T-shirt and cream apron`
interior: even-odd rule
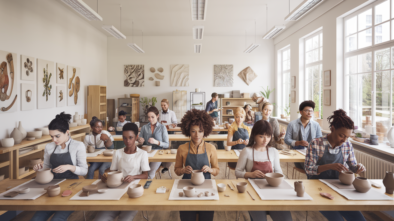
[[[138,183],[139,180],[133,180],[132,182],[126,184],[127,186],[130,186]],[[95,183],[93,182],[93,184]],[[106,193],[96,193],[93,195],[89,195],[88,197],[80,197],[79,195],[82,193],[81,190],[78,193],[76,193],[74,196],[72,196],[70,200],[119,200],[127,192],[127,188],[125,189],[104,188],[104,189],[108,189],[108,191]]]

